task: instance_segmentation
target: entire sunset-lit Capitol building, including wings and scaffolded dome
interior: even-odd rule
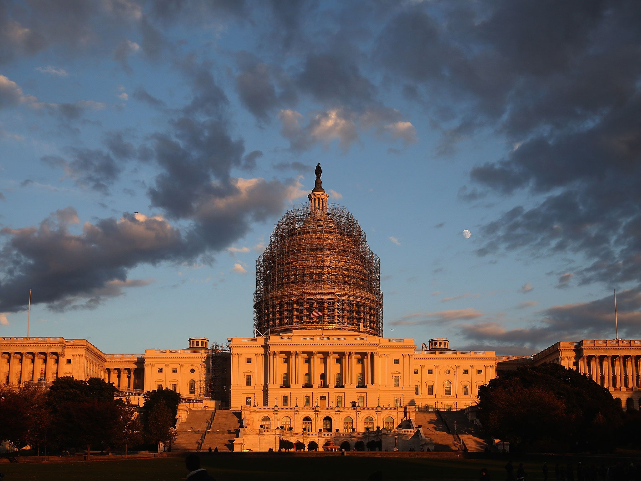
[[[183,417],[189,401],[239,411],[234,450],[276,450],[294,438],[353,443],[375,432],[383,447],[419,450],[429,439],[417,411],[470,407],[497,369],[542,362],[578,369],[638,409],[641,341],[557,342],[514,358],[451,350],[447,339],[417,346],[383,337],[378,257],[353,216],[328,206],[320,176],[317,167],[309,205],[283,216],[258,258],[254,336],[228,339],[228,368],[212,361],[205,337],[142,355],[105,354],[84,339],[2,337],[0,384],[99,377],[138,403],[142,392],[167,387],[187,403]]]

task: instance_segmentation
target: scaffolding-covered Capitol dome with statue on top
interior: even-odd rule
[[[288,211],[256,261],[254,335],[338,329],[383,335],[380,260],[320,181],[309,204]]]

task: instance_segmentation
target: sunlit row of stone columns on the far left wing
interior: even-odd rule
[[[60,377],[62,357],[60,353],[10,352],[8,372],[0,376],[0,384],[47,381]],[[29,369],[29,366],[32,366]],[[42,376],[40,376],[42,368]]]

